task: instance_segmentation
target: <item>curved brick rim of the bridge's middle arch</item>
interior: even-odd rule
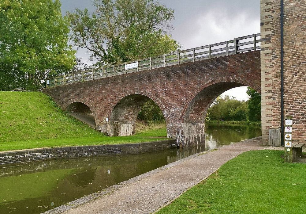
[[[113,100],[113,102],[110,104],[110,107],[107,111],[107,114],[106,114],[106,117],[109,117],[111,116],[111,113],[114,109],[114,107],[117,105],[117,103],[122,100],[123,98],[129,96],[129,95],[133,95],[133,94],[140,94],[140,95],[144,95],[146,97],[149,97],[151,100],[153,100],[160,108],[160,110],[162,111],[163,113],[163,116],[165,117],[165,120],[166,120],[166,123],[168,124],[169,123],[169,118],[167,117],[167,115],[165,114],[166,112],[166,108],[165,106],[162,104],[162,102],[157,98],[155,97],[155,95],[145,91],[145,90],[140,90],[140,89],[134,89],[134,90],[129,90],[129,91],[126,91],[124,93],[121,93],[119,94],[117,97],[115,97],[115,99]]]

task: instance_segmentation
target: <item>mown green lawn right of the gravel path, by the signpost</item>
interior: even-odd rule
[[[157,213],[305,213],[306,164],[283,154],[245,152]]]

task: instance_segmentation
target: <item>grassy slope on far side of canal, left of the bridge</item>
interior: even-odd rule
[[[151,127],[152,128],[152,127]],[[0,92],[0,151],[114,143],[139,143],[164,136],[166,128],[141,129],[140,134],[107,137],[63,112],[39,92]]]

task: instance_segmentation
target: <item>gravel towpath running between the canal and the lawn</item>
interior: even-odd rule
[[[237,155],[268,148],[261,144],[261,137],[257,137],[215,151],[192,155],[47,213],[63,213],[65,210],[68,210],[66,214],[151,213],[207,178]]]

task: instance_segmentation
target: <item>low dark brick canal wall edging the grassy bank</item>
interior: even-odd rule
[[[99,155],[123,155],[156,151],[176,147],[176,140],[161,140],[147,143],[129,143],[116,145],[75,146],[32,149],[24,151],[0,152],[0,166],[47,159],[77,158]]]

